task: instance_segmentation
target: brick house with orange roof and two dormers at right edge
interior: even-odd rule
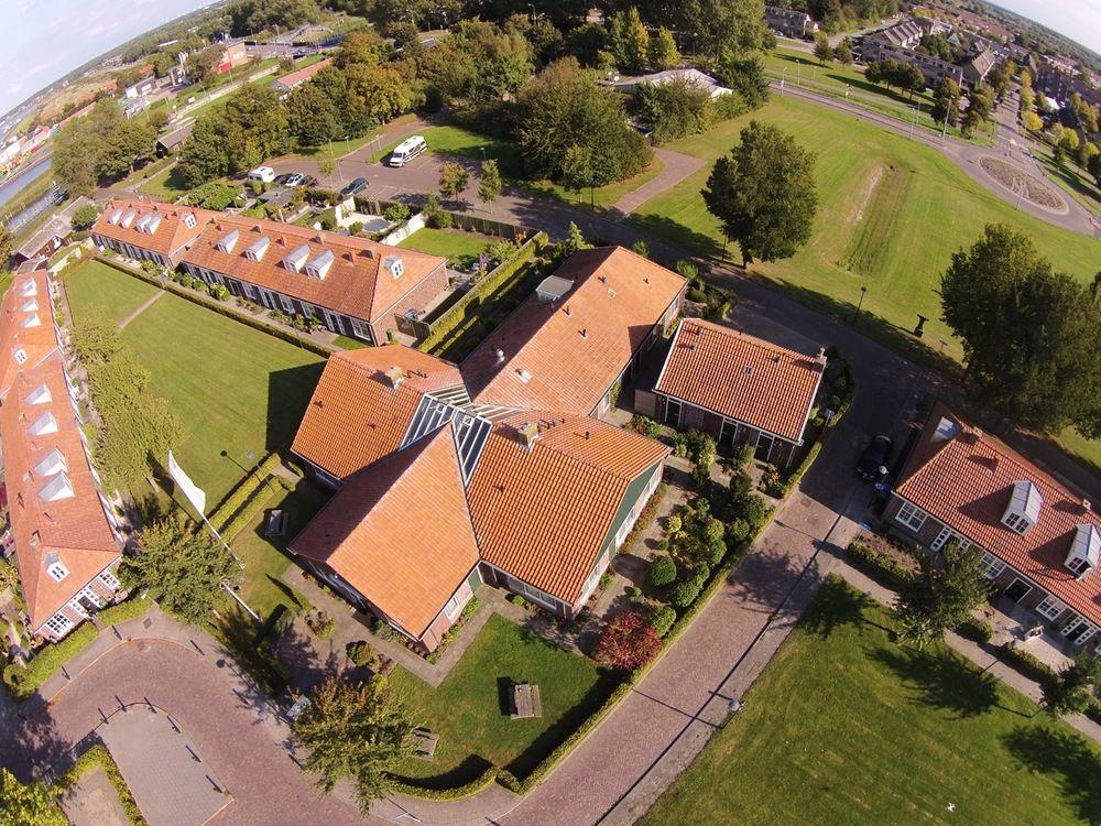
[[[1091,503],[995,438],[937,405],[891,493],[884,519],[926,547],[982,551],[1003,599],[1046,633],[1101,640],[1101,517]]]

